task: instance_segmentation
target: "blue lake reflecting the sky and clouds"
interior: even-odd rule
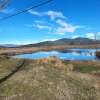
[[[96,49],[64,49],[56,51],[41,51],[33,54],[21,54],[12,57],[37,59],[46,58],[50,56],[57,56],[60,59],[67,60],[100,60],[95,56],[95,52]]]

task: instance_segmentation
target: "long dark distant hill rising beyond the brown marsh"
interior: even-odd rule
[[[97,41],[100,43],[100,40]],[[35,43],[35,44],[28,44],[28,45],[22,45],[20,47],[39,47],[39,46],[57,46],[57,45],[78,45],[78,44],[95,44],[96,41],[94,39],[89,39],[89,38],[75,38],[75,39],[69,39],[69,38],[62,38],[56,41],[44,41],[40,43]]]

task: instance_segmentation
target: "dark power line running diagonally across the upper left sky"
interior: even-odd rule
[[[47,3],[51,2],[51,1],[53,1],[53,0],[48,0],[48,1],[45,1],[45,2],[43,2],[43,3],[38,4],[38,5],[36,5],[36,6],[32,6],[32,7],[28,8],[28,9],[25,9],[25,10],[23,10],[23,11],[20,11],[20,12],[18,12],[18,13],[16,13],[16,14],[13,14],[13,15],[8,16],[8,17],[5,17],[5,18],[2,18],[2,19],[0,19],[0,21],[9,19],[9,18],[14,17],[14,16],[17,16],[17,15],[22,14],[22,13],[24,13],[24,12],[27,12],[28,10],[31,10],[31,9],[33,9],[33,8],[40,7],[40,6],[45,5],[45,4],[47,4]]]

